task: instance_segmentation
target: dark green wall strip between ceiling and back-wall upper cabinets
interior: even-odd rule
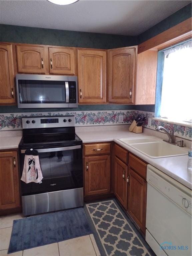
[[[110,49],[137,45],[136,36],[85,33],[0,24],[0,41]]]

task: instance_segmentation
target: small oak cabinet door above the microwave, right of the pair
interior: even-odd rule
[[[49,47],[49,73],[75,74],[75,50]]]

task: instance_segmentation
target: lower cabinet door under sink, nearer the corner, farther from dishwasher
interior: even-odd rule
[[[115,195],[127,209],[127,165],[115,157]]]

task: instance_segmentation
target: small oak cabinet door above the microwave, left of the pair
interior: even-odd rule
[[[45,48],[17,45],[17,67],[21,73],[46,73]]]

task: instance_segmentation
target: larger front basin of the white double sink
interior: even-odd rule
[[[188,154],[188,150],[186,148],[181,148],[163,141],[138,143],[134,145],[132,144],[131,146],[151,158],[181,156]]]

